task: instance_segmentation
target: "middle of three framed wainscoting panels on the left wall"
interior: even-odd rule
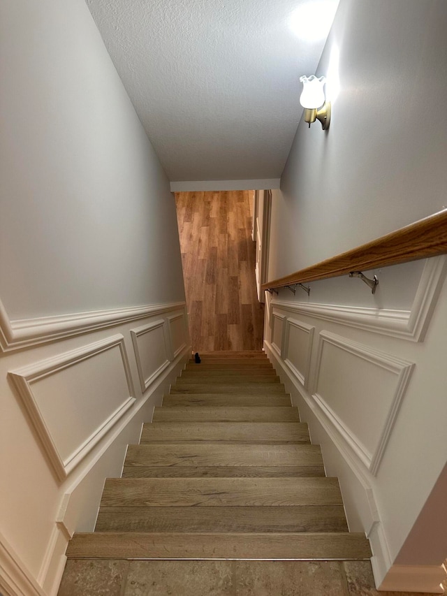
[[[171,349],[165,319],[131,330],[142,393],[169,365]]]

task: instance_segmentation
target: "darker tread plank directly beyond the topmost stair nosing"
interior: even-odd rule
[[[96,532],[347,532],[342,505],[101,507]]]

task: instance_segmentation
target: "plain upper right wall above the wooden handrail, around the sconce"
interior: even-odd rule
[[[339,95],[327,133],[300,123],[273,191],[270,279],[447,205],[446,130],[427,115],[447,92],[446,23],[443,0],[340,2],[317,69]]]

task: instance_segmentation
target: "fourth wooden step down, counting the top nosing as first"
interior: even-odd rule
[[[239,441],[310,443],[302,422],[152,422],[143,425],[140,444],[156,441]]]

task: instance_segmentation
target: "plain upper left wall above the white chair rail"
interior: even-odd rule
[[[3,2],[0,44],[10,319],[184,300],[168,178],[85,3]]]

